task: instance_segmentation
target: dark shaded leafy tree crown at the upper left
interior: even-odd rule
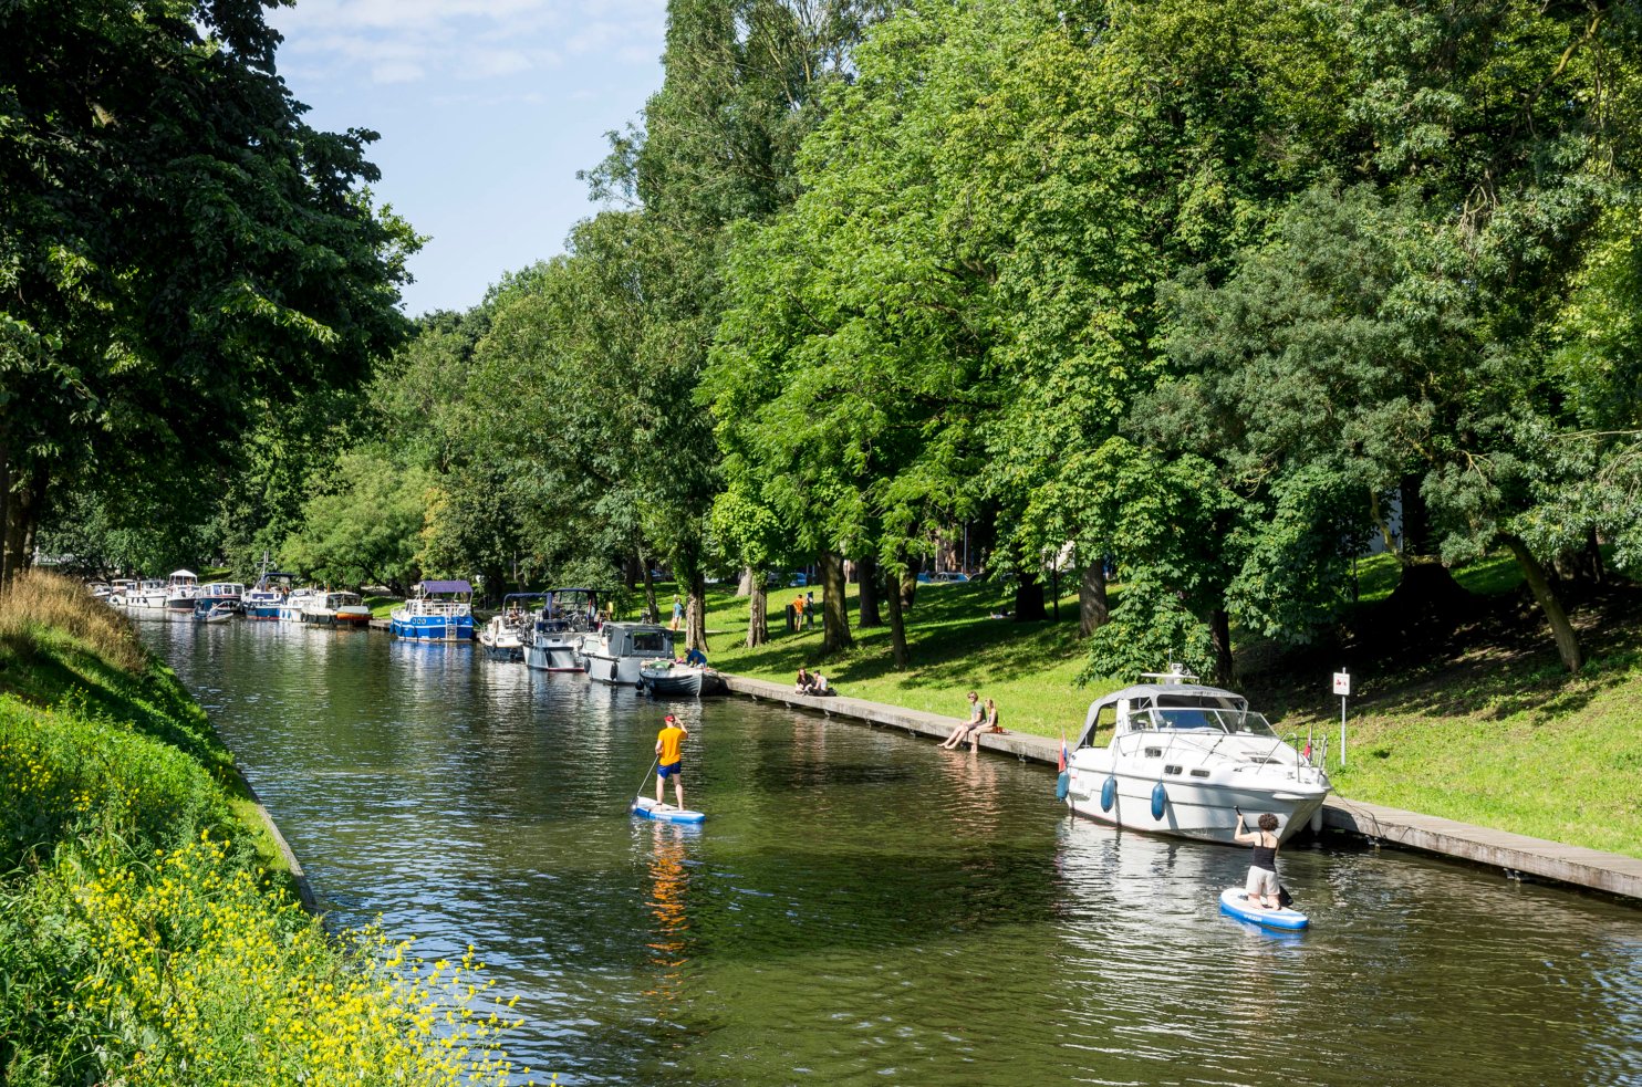
[[[356,383],[417,240],[248,0],[0,8],[0,576],[57,486],[220,463],[258,404]]]

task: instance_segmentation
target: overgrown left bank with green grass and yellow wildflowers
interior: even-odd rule
[[[123,617],[0,591],[0,1082],[512,1080],[478,964],[328,934],[276,857]]]

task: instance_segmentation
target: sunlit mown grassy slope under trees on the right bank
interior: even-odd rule
[[[1365,604],[1389,596],[1396,568],[1360,565]],[[1353,665],[1348,759],[1338,762],[1340,701],[1328,695],[1342,662],[1289,655],[1243,683],[1282,732],[1332,737],[1340,795],[1479,826],[1642,857],[1642,608],[1634,588],[1581,608],[1589,660],[1566,675],[1537,612],[1522,601],[1509,560],[1456,573],[1499,616],[1461,631],[1429,660]],[[854,586],[851,586],[854,589]],[[1077,603],[1061,619],[1016,624],[990,617],[1007,601],[985,585],[921,586],[908,629],[913,668],[895,672],[888,629],[854,631],[855,647],[821,657],[821,631],[785,629],[800,589],[772,589],[770,642],[745,649],[747,601],[729,586],[709,596],[709,655],[724,672],[790,681],[821,668],[846,695],[949,716],[974,688],[998,701],[1005,726],[1069,736],[1089,703],[1118,683],[1077,686],[1084,647]],[[854,622],[854,596],[851,596]],[[1164,662],[1159,662],[1159,667]]]

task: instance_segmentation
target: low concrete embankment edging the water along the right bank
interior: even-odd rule
[[[829,718],[857,721],[877,727],[903,729],[908,736],[946,739],[961,721],[934,713],[885,706],[860,698],[813,698],[795,695],[782,683],[726,675],[729,690],[755,699],[777,701],[798,709],[811,709]],[[980,745],[1021,760],[1059,765],[1061,742],[1044,736],[1018,732],[982,734]],[[1323,828],[1358,834],[1376,844],[1399,846],[1443,857],[1470,860],[1502,869],[1507,875],[1532,875],[1537,878],[1571,883],[1591,890],[1642,900],[1642,859],[1622,854],[1563,846],[1525,834],[1494,831],[1455,819],[1366,805],[1355,800],[1330,796],[1323,805]]]

